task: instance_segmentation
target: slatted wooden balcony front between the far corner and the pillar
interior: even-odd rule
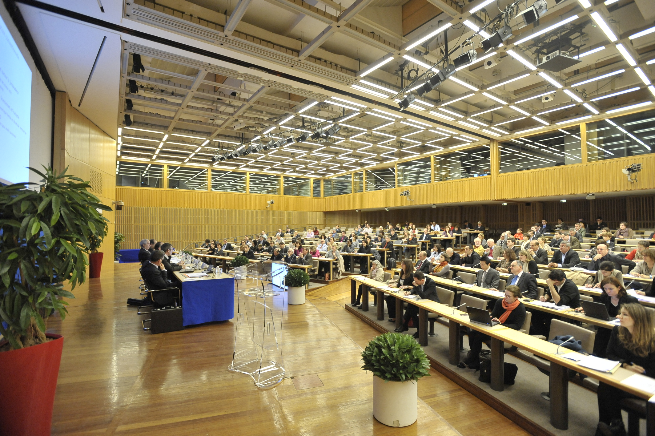
[[[401,197],[400,193],[410,189],[411,199]],[[414,186],[402,186],[381,191],[369,191],[355,194],[337,195],[323,199],[324,212],[345,210],[346,208],[408,207],[430,205],[435,203],[462,203],[481,201],[491,198],[491,176],[464,178],[448,182],[429,183]],[[386,220],[385,220],[386,222]]]

